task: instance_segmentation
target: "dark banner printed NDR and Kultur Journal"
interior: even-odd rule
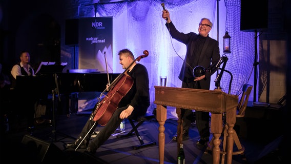
[[[112,17],[79,18],[78,69],[113,73]]]

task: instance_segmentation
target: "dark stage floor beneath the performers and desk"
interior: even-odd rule
[[[80,163],[159,163],[158,153],[158,127],[156,119],[144,122],[138,129],[144,142],[155,141],[157,145],[134,150],[133,146],[139,145],[139,140],[135,135],[127,138],[116,138],[111,136],[93,156],[84,154],[84,149],[77,151],[66,149],[65,144],[74,141],[78,137],[82,127],[85,125],[89,115],[57,115],[55,126],[44,123],[36,125],[31,134],[34,140],[41,143],[44,147],[50,148],[46,152],[39,154],[29,153],[27,144],[22,141],[30,133],[26,129],[25,119],[9,118],[10,129],[3,132],[1,138],[2,159],[7,162],[30,162],[37,161],[39,157],[50,162],[80,162]],[[177,120],[168,119],[165,122],[165,151],[164,163],[177,162],[177,142],[172,140],[172,136],[177,131]],[[101,130],[98,126],[95,131]],[[131,130],[130,122],[126,121],[126,134]],[[190,138],[183,141],[185,152],[185,163],[212,163],[212,154],[204,153],[204,150],[196,148],[196,140],[199,138],[195,124],[191,126]],[[211,136],[212,137],[212,136]],[[280,154],[277,146],[280,142],[275,139],[269,144],[261,143],[256,140],[240,139],[245,147],[244,156],[233,155],[233,163],[280,163]],[[44,141],[44,142],[43,142]],[[221,158],[220,158],[221,159]],[[48,162],[48,163],[50,163]]]

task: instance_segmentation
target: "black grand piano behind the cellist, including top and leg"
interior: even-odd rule
[[[69,96],[75,92],[102,92],[119,75],[100,73],[92,70],[68,70],[67,73],[42,73],[36,76],[17,76],[15,92],[29,93],[34,99],[46,99],[51,95],[65,97],[61,105],[69,107]],[[58,92],[58,93],[57,93]],[[96,97],[97,98],[97,97]],[[64,109],[63,109],[64,110]],[[65,109],[67,112],[68,110]]]

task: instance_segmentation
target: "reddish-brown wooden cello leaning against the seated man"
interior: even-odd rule
[[[94,112],[90,116],[90,120],[97,122],[100,126],[105,126],[111,118],[113,112],[118,108],[118,104],[133,86],[132,78],[127,74],[130,67],[140,59],[147,57],[149,51],[144,50],[144,55],[137,57],[130,66],[119,74],[114,81],[100,94],[99,100],[94,107]],[[109,91],[108,91],[109,90]],[[108,93],[105,95],[104,93]],[[102,98],[103,97],[103,98]]]

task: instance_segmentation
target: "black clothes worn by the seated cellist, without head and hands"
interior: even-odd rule
[[[90,137],[98,124],[94,125],[95,121],[88,119],[79,135],[79,138],[75,141],[75,145],[79,144],[80,140],[83,139],[88,133],[81,146],[83,148],[84,146],[87,147],[87,151],[90,153],[96,152],[97,148],[99,148],[119,127],[122,120],[119,118],[119,115],[123,110],[127,109],[129,105],[134,107],[134,110],[129,118],[135,119],[146,114],[150,106],[149,76],[147,68],[141,64],[136,64],[131,71],[127,72],[127,74],[132,78],[133,86],[126,96],[122,97],[120,103],[118,104],[117,110],[113,113],[107,125],[103,127],[98,135],[89,143]]]

